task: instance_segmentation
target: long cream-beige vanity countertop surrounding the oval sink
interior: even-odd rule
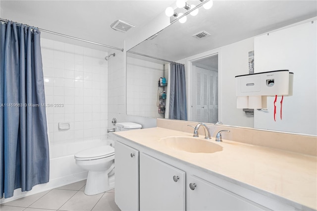
[[[222,146],[222,151],[178,151],[164,147],[159,139],[168,136],[192,137],[193,134],[160,127],[120,131],[115,134],[199,168],[317,210],[317,157],[224,139],[218,143],[214,138],[211,142]],[[200,136],[202,139],[203,137]]]

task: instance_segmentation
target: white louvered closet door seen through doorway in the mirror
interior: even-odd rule
[[[218,121],[218,74],[196,67],[196,121]]]

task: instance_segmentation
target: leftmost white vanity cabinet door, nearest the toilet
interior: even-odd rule
[[[122,211],[139,210],[139,151],[115,143],[115,203]]]

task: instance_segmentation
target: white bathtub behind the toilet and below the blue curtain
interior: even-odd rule
[[[20,188],[16,189],[14,190],[13,197],[8,199],[2,198],[0,204],[87,179],[88,171],[76,165],[74,154],[85,149],[109,144],[113,144],[113,141],[106,139],[102,141],[93,140],[79,143],[50,144],[50,181],[34,186],[31,191],[21,192]]]

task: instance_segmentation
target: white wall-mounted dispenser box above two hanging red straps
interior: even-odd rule
[[[267,96],[292,96],[293,77],[288,70],[236,76],[237,108],[266,108]]]

